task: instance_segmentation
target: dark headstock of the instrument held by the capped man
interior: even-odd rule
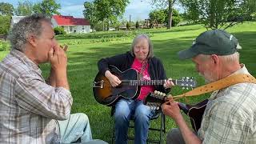
[[[160,107],[162,103],[166,102],[166,94],[160,91],[154,90],[154,93],[150,93],[144,99],[144,105],[150,107]]]

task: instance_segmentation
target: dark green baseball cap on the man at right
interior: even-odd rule
[[[198,54],[230,55],[241,48],[238,39],[225,30],[207,30],[199,34],[189,49],[179,51],[178,57],[188,59]]]

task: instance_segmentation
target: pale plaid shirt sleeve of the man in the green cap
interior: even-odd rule
[[[209,127],[205,131],[203,142],[243,143],[249,134],[249,117],[242,106],[234,106],[230,102],[217,102],[211,108]]]

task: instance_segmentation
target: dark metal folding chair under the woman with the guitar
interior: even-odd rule
[[[113,115],[114,115],[114,106],[111,109],[111,116],[113,116]],[[161,124],[160,124],[160,126],[159,127],[151,127],[150,126],[150,128],[149,128],[149,134],[150,134],[150,132],[157,131],[159,137],[158,138],[150,138],[150,137],[148,137],[148,139],[146,140],[147,143],[159,143],[159,144],[161,144],[163,142],[163,137],[166,134],[166,117],[165,117],[165,114],[162,113],[161,109],[157,110],[155,112],[155,114],[153,115],[153,117],[150,118],[150,121],[151,120],[156,120],[159,117],[161,117]],[[131,118],[131,120],[134,120],[134,118]],[[134,122],[130,121],[129,129],[133,129],[134,130]],[[133,141],[133,140],[134,140],[134,137],[130,136],[129,133],[128,133],[128,141]],[[113,126],[113,134],[112,134],[112,141],[111,141],[111,143],[114,144],[114,126]]]

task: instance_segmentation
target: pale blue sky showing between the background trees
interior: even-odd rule
[[[42,0],[29,0],[30,2],[42,2]],[[16,8],[18,2],[22,0],[0,0],[0,2],[8,2]],[[56,0],[57,3],[61,4],[61,10],[58,10],[62,15],[70,15],[75,18],[84,18],[82,11],[84,10],[84,2],[92,2],[92,0]],[[151,0],[130,0],[130,4],[126,6],[126,11],[123,15],[123,18],[131,21],[144,20],[149,18],[148,14],[154,9],[150,5]]]

